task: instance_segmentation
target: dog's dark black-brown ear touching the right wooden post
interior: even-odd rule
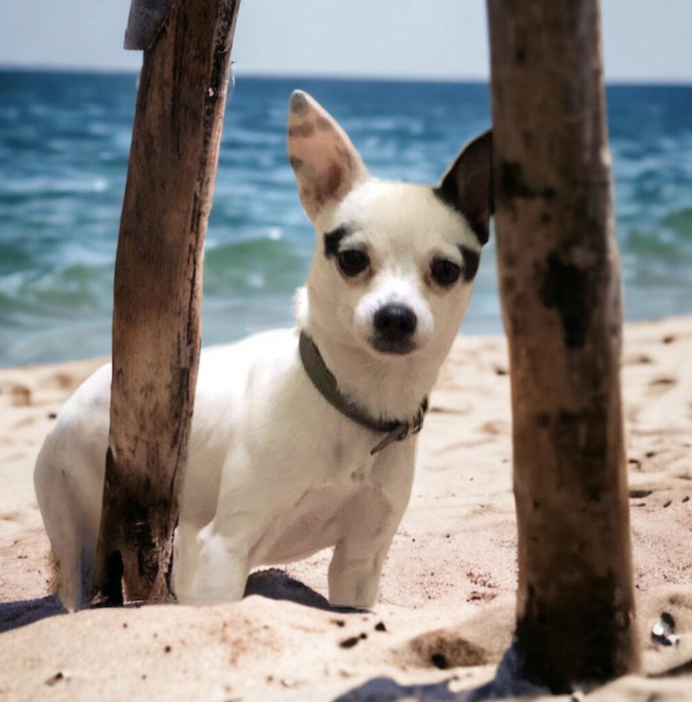
[[[435,194],[461,213],[478,241],[488,241],[492,212],[492,130],[476,137],[457,156]]]

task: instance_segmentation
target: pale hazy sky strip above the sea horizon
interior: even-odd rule
[[[0,65],[136,69],[129,4],[0,0]],[[610,81],[692,82],[692,0],[601,6]],[[235,36],[240,75],[488,77],[484,0],[242,0]]]

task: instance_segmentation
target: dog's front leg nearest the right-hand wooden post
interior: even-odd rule
[[[369,608],[377,601],[382,565],[411,492],[414,451],[414,439],[388,446],[344,508],[329,564],[332,607]]]

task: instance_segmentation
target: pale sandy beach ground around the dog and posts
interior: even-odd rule
[[[644,674],[595,701],[692,700],[692,318],[636,324],[623,357]],[[516,534],[507,353],[459,338],[374,611],[329,611],[329,553],[252,576],[242,602],[50,616],[34,458],[100,363],[0,370],[0,699],[452,700],[511,641]],[[670,612],[677,645],[651,641]],[[35,620],[35,621],[34,621]],[[661,673],[673,670],[661,677]]]

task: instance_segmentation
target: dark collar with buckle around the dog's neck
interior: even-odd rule
[[[423,428],[423,420],[425,413],[428,411],[428,398],[424,397],[417,413],[414,417],[406,420],[378,420],[370,416],[367,412],[351,402],[351,400],[341,394],[337,386],[337,379],[334,378],[332,371],[329,371],[327,364],[322,359],[322,354],[315,342],[304,332],[301,331],[299,340],[299,350],[303,368],[308,374],[308,378],[312,380],[313,385],[320,392],[329,404],[339,410],[341,414],[353,420],[356,424],[360,424],[366,429],[374,432],[386,434],[384,439],[374,446],[370,451],[373,456],[382,449],[386,449],[389,444],[395,441],[403,441],[412,434],[417,434]]]

